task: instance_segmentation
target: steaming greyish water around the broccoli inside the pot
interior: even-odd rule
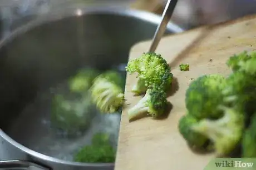
[[[125,74],[124,78],[125,78]],[[51,115],[52,93],[39,93],[35,101],[13,122],[8,134],[23,146],[47,156],[73,161],[77,151],[91,143],[93,134],[107,132],[110,134],[112,146],[116,148],[119,135],[120,113],[101,114],[93,110],[91,126],[85,133],[77,132],[68,137],[65,131],[53,128]]]

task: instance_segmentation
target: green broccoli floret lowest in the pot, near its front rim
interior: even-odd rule
[[[86,163],[114,163],[116,151],[111,146],[109,134],[96,133],[92,137],[92,144],[84,146],[74,156],[76,162]]]

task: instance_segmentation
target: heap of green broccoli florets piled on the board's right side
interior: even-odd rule
[[[227,61],[233,71],[227,78],[205,75],[190,83],[185,98],[188,114],[179,122],[188,143],[203,144],[199,137],[193,141],[193,133],[199,133],[210,139],[210,147],[219,155],[233,154],[242,142],[242,157],[256,157],[255,65],[255,52],[235,54]],[[193,123],[190,129],[184,126],[189,122],[186,119]]]

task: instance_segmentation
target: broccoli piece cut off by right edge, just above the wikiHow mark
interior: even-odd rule
[[[254,113],[250,126],[245,130],[242,138],[242,157],[256,157],[256,114]]]

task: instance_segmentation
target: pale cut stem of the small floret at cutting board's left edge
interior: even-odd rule
[[[147,95],[145,95],[134,107],[129,109],[128,117],[129,120],[135,119],[136,117],[143,116],[145,113],[149,111],[149,107],[146,106]]]

